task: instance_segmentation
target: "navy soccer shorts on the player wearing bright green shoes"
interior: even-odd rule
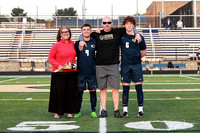
[[[78,75],[78,88],[80,91],[97,89],[97,80],[95,75]]]

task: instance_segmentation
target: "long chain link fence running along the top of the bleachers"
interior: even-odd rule
[[[0,17],[0,28],[27,28],[27,29],[57,29],[62,25],[67,25],[70,28],[80,28],[83,24],[88,23],[93,28],[101,28],[101,22],[104,16],[19,16],[19,17]],[[121,27],[122,21],[126,16],[110,16],[113,20],[114,27]],[[192,28],[196,24],[200,27],[200,15],[141,15],[133,16],[136,19],[136,26],[139,28],[164,28],[163,24],[170,18],[173,23],[172,29],[176,29],[179,19],[183,22],[183,28]],[[40,19],[38,19],[40,18]],[[196,28],[196,27],[195,27]]]

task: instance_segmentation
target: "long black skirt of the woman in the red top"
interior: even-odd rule
[[[52,72],[49,112],[78,113],[78,101],[77,72]]]

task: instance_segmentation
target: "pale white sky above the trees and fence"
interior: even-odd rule
[[[47,17],[55,13],[56,9],[73,7],[78,15],[82,15],[84,0],[1,0],[0,14],[10,15],[13,8],[22,8],[28,16]],[[85,0],[86,15],[134,15],[137,13],[137,0]],[[143,14],[153,1],[138,0],[138,13]],[[164,0],[167,1],[167,0]],[[168,0],[191,1],[191,0]]]

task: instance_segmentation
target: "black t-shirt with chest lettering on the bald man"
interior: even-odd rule
[[[110,32],[101,30],[92,32],[91,36],[97,42],[96,65],[119,64],[119,45],[125,28],[111,29]]]

